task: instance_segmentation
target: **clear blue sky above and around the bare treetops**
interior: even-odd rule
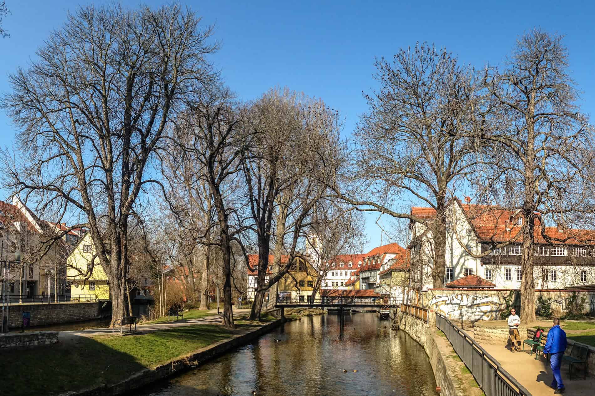
[[[2,24],[11,37],[0,39],[0,92],[6,75],[26,66],[67,11],[88,1],[6,0],[11,14]],[[95,1],[101,4],[101,1]],[[139,2],[126,2],[131,6]],[[159,5],[162,1],[146,1]],[[375,84],[374,57],[390,57],[401,47],[431,42],[464,63],[502,63],[516,37],[540,26],[566,35],[572,77],[583,94],[583,111],[593,113],[595,6],[562,1],[186,1],[208,24],[222,47],[214,61],[226,83],[246,100],[270,87],[287,86],[321,97],[345,119],[349,135],[366,111],[362,91]],[[0,146],[12,144],[14,129],[0,112]],[[1,192],[1,191],[0,191]],[[5,194],[2,194],[5,195]],[[368,217],[368,248],[380,244],[375,217]],[[383,220],[385,225],[389,219]],[[388,242],[383,236],[383,243]]]

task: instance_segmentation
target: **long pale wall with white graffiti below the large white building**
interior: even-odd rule
[[[569,290],[536,290],[536,298],[543,296],[552,299],[555,316],[565,314]],[[584,313],[595,315],[595,290],[578,291],[585,296]],[[506,300],[518,309],[520,292],[517,289],[430,289],[424,292],[422,305],[434,309],[457,324],[477,321],[499,320],[500,313],[506,310]]]

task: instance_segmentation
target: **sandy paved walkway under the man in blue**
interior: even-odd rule
[[[552,369],[549,366],[546,367],[546,360],[541,355],[539,360],[535,360],[535,354],[530,356],[526,352],[527,348],[525,348],[525,352],[511,352],[505,346],[485,343],[481,346],[533,396],[553,395],[554,391],[549,386],[552,383]],[[568,365],[562,367],[562,381],[566,387],[566,392],[564,392],[566,396],[593,396],[595,394],[593,390],[595,389],[595,379],[587,376],[587,379],[584,380],[583,373],[578,372],[578,375],[572,374],[572,381],[570,381]]]

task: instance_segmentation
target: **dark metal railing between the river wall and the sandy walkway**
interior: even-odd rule
[[[453,349],[471,371],[486,396],[531,396],[496,359],[473,338],[452,324],[446,316],[436,314],[436,327],[446,334]]]

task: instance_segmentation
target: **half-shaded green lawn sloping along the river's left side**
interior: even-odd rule
[[[78,337],[54,346],[3,351],[2,394],[49,395],[113,384],[232,334],[216,325],[193,325],[125,337]]]

